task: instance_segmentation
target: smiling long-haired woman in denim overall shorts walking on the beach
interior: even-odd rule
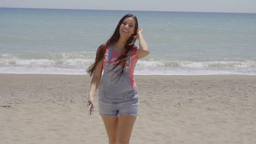
[[[95,63],[87,70],[93,75],[88,106],[94,105],[94,94],[98,88],[98,109],[109,143],[129,143],[138,116],[138,94],[133,71],[138,59],[149,54],[142,31],[138,29],[136,16],[125,15],[112,37],[98,48]],[[137,39],[139,46],[134,45]],[[94,111],[91,110],[92,113]]]

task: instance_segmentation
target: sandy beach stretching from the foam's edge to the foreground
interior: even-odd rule
[[[0,143],[108,143],[89,75],[0,74]],[[256,76],[136,75],[130,143],[256,143]]]

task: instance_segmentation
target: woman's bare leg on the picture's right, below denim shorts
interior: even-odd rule
[[[118,118],[118,144],[129,144],[136,116],[120,115]]]

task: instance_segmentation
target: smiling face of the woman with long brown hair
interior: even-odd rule
[[[121,23],[119,33],[121,36],[130,38],[135,31],[135,20],[132,17],[126,17]]]

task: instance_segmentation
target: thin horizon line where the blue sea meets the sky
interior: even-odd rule
[[[118,10],[118,9],[71,9],[71,8],[21,8],[21,7],[0,7],[17,9],[63,9],[63,10],[109,10],[109,11],[154,11],[154,12],[183,12],[183,13],[237,13],[237,14],[256,14],[248,12],[217,12],[217,11],[168,11],[168,10]]]

